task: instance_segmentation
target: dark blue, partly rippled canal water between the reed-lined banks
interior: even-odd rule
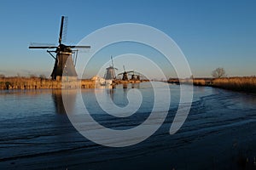
[[[153,107],[149,83],[110,89],[84,89],[91,116],[105,127],[130,129],[143,123]],[[124,107],[137,88],[143,103],[129,117],[109,116],[96,105],[96,93]],[[160,87],[159,87],[160,88]],[[1,169],[254,169],[256,96],[195,87],[189,116],[170,135],[179,86],[170,85],[172,102],[163,125],[142,143],[113,148],[85,139],[69,121],[59,90],[0,92]],[[81,111],[78,94],[73,111]],[[164,101],[163,105],[164,104]],[[110,108],[111,109],[111,108]],[[161,109],[161,108],[158,108]]]

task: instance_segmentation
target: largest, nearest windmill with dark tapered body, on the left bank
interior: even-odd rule
[[[29,48],[55,49],[55,50],[47,50],[47,52],[51,55],[51,57],[55,59],[54,69],[50,75],[53,80],[61,80],[62,77],[67,77],[67,79],[69,78],[69,80],[70,79],[76,80],[78,77],[78,74],[75,70],[75,65],[73,60],[75,60],[75,63],[76,63],[77,56],[78,56],[78,49],[72,50],[72,48],[90,48],[90,46],[73,46],[73,45],[63,44],[61,41],[62,41],[62,34],[63,34],[63,26],[65,24],[67,24],[67,17],[61,16],[61,28],[60,28],[58,46],[54,46],[54,45],[29,46]],[[67,28],[67,25],[65,25],[65,28]],[[55,53],[55,55],[53,53]]]

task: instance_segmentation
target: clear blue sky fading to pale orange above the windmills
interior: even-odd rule
[[[77,44],[106,26],[143,24],[164,32],[177,43],[194,77],[211,77],[212,71],[218,67],[223,67],[229,77],[253,76],[256,75],[255,8],[256,1],[253,0],[3,0],[0,5],[0,74],[44,74],[49,77],[54,59],[46,50],[29,49],[28,46],[31,42],[57,44],[61,15],[65,15],[68,17],[65,44]],[[123,43],[122,46],[121,43],[115,48],[102,49],[96,54],[96,60],[110,59],[113,55],[115,61],[115,57],[122,53],[140,52],[158,60],[156,64],[166,77],[175,77],[172,65],[166,65],[164,56],[150,50],[143,45]],[[79,58],[88,56],[90,51],[86,53]],[[132,63],[132,59],[125,58],[116,60],[117,72],[123,71],[123,65],[127,70],[137,70],[141,65],[149,70],[148,74],[161,78],[143,62]],[[87,77],[94,74],[96,71],[86,72]]]

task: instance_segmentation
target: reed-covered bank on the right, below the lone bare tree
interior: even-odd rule
[[[224,78],[193,78],[170,79],[169,83],[188,83],[195,86],[210,86],[212,88],[224,88],[228,90],[256,93],[256,77],[224,77]]]

